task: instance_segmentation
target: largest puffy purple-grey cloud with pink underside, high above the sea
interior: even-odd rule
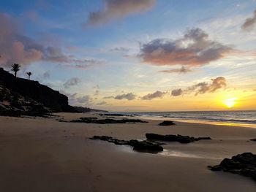
[[[216,61],[230,50],[230,46],[208,39],[202,29],[192,28],[180,39],[154,39],[141,45],[138,56],[148,64],[192,67]]]

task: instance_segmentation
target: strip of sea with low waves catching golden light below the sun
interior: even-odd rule
[[[189,112],[115,112],[157,120],[184,120],[188,122],[238,123],[256,126],[256,110],[250,111],[189,111]]]

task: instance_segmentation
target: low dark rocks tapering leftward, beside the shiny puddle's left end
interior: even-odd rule
[[[138,141],[136,139],[131,140],[119,140],[114,139],[113,137],[108,136],[94,136],[90,139],[99,139],[102,141],[112,142],[116,145],[130,145],[133,147],[133,150],[137,150],[140,152],[146,152],[146,153],[158,153],[163,151],[162,144],[159,144],[157,142],[151,142],[151,141]]]

